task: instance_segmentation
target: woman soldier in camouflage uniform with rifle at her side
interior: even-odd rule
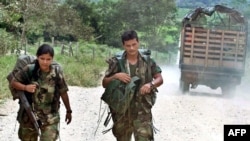
[[[66,107],[66,122],[71,122],[71,107],[61,67],[52,65],[54,50],[47,44],[41,45],[36,53],[35,64],[29,64],[15,74],[11,85],[25,91],[26,97],[40,123],[40,141],[55,141],[59,136],[59,98]],[[32,71],[31,71],[32,70]],[[31,72],[30,72],[31,71]],[[29,73],[32,77],[29,78]],[[56,78],[58,77],[58,78]],[[56,92],[58,97],[56,98]],[[37,141],[38,133],[26,112],[18,113],[20,123],[18,136],[22,141]]]

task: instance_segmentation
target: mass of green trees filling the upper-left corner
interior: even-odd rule
[[[93,38],[93,28],[82,24],[79,13],[62,0],[9,0],[4,4],[0,6],[3,13],[0,26],[15,31],[21,48],[42,37],[68,41]]]

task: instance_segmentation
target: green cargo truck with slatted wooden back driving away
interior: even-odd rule
[[[196,8],[182,21],[180,89],[206,85],[233,94],[244,75],[247,20],[229,7]]]

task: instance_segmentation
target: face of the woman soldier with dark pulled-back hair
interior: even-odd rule
[[[49,53],[38,56],[40,69],[44,72],[49,72],[52,61],[53,57]]]

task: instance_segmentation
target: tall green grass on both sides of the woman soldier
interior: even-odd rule
[[[96,48],[95,58],[91,57],[89,52],[86,52],[85,54],[79,53],[77,56],[61,55],[60,48],[54,48],[54,60],[62,65],[65,79],[68,85],[82,87],[95,87],[100,85],[99,82],[102,78],[101,73],[106,67],[106,63],[103,60],[103,54],[106,54],[107,51],[102,52],[98,50],[103,50],[103,48],[103,46],[98,46]],[[36,49],[36,45],[27,47],[28,53],[32,55],[35,55]],[[91,51],[91,49],[87,49],[86,45],[84,44],[80,46],[80,49]],[[17,55],[15,54],[0,56],[0,99],[11,98],[6,77],[8,73],[13,69],[16,59]]]

